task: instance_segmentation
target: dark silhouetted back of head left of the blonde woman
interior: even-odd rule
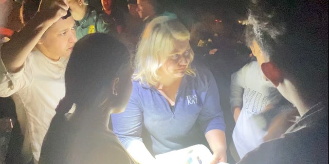
[[[106,91],[107,95],[112,93],[114,78],[128,64],[130,55],[117,39],[102,33],[81,38],[72,50],[67,64],[65,98],[75,103],[77,108],[94,103],[102,91]],[[107,96],[104,95],[100,101],[104,102],[106,99]]]

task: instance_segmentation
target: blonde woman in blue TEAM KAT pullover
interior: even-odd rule
[[[153,155],[196,144],[210,146],[212,163],[226,161],[218,89],[209,70],[191,65],[189,39],[172,16],[154,18],[143,31],[129,104],[112,115],[115,134],[139,163],[159,163]]]

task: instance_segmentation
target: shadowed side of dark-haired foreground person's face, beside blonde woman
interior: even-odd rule
[[[113,113],[120,113],[125,110],[125,107],[128,104],[130,99],[130,95],[132,94],[133,84],[132,84],[132,75],[133,75],[132,65],[124,67],[119,71],[118,77],[119,82],[117,83],[117,92],[118,92],[118,100],[116,100],[116,108]]]

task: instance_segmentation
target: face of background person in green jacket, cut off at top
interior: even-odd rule
[[[83,5],[82,0],[68,0],[68,6],[70,7],[70,12],[72,17],[75,20],[83,19],[84,15],[86,14],[86,5]]]

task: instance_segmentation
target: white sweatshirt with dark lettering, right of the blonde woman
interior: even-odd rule
[[[231,107],[240,106],[241,113],[233,130],[233,142],[240,158],[262,144],[266,131],[252,116],[270,104],[269,94],[276,89],[264,78],[257,61],[246,64],[231,76]]]

